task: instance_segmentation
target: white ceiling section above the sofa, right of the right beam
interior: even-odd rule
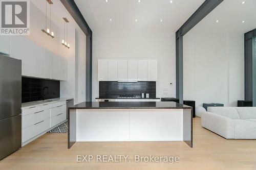
[[[193,31],[244,34],[253,29],[256,29],[256,0],[224,0]]]

